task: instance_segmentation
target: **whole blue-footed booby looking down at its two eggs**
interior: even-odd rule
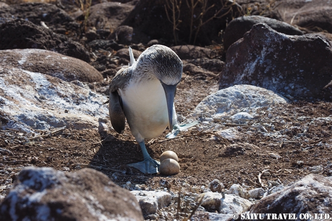
[[[158,44],[144,51],[137,61],[131,48],[129,54],[129,66],[120,69],[110,84],[109,116],[118,133],[125,130],[127,118],[141,148],[144,161],[129,166],[154,174],[158,173],[160,163],[148,154],[144,140],[159,136],[167,126],[173,129],[169,138],[181,130],[182,126],[177,124],[174,96],[183,64],[171,48]]]

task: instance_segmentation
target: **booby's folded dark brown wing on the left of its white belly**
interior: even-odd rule
[[[109,117],[111,119],[112,127],[119,134],[122,134],[125,130],[126,116],[123,111],[121,96],[117,90],[126,87],[131,77],[131,73],[131,68],[121,68],[117,71],[109,86]]]

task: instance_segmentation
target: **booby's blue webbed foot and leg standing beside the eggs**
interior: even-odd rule
[[[145,147],[144,141],[139,142],[139,146],[140,146],[140,149],[142,150],[144,161],[138,162],[138,163],[131,163],[131,164],[128,164],[128,166],[134,167],[144,174],[159,173],[160,162],[157,160],[154,160],[150,157],[150,155]]]

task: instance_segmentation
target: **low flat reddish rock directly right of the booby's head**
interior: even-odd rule
[[[206,47],[195,45],[178,45],[171,49],[182,59],[214,58],[216,55]]]

